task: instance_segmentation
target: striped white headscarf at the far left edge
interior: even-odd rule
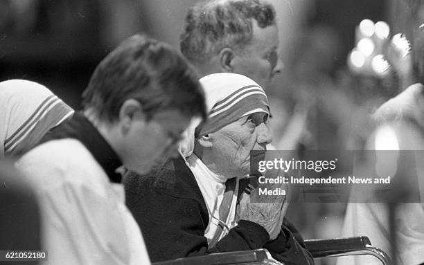
[[[71,107],[41,84],[0,82],[0,159],[24,154],[72,114]]]

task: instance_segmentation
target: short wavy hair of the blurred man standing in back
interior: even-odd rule
[[[193,64],[207,62],[222,48],[242,51],[260,28],[275,24],[275,10],[261,0],[205,1],[188,10],[179,48]]]

